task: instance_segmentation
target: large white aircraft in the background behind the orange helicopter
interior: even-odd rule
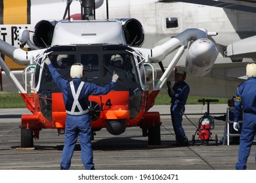
[[[143,48],[152,48],[170,39],[185,29],[205,27],[208,31],[216,31],[215,37],[210,37],[219,50],[219,56],[211,71],[203,76],[193,76],[188,73],[186,81],[190,84],[190,95],[209,97],[229,97],[234,95],[238,84],[243,82],[245,65],[251,58],[239,56],[226,57],[226,46],[255,34],[256,17],[254,1],[118,1],[108,0],[109,11],[106,12],[106,2],[96,9],[95,18],[136,18],[144,28]],[[60,20],[64,17],[63,9],[66,1],[40,1],[40,0],[14,0],[0,1],[1,19],[0,38],[12,46],[19,47],[18,31],[27,27],[32,33],[40,20]],[[73,1],[70,7],[74,14],[79,14],[80,3]],[[27,46],[25,46],[25,49]],[[163,59],[163,69],[167,69],[175,52]],[[17,65],[5,56],[5,62],[11,68],[18,80],[22,80],[20,69],[24,66]],[[177,63],[177,67],[185,67],[184,56]],[[160,65],[157,67],[158,78],[162,73]],[[3,91],[15,91],[9,84],[5,73],[0,76]],[[173,80],[173,75],[169,80]],[[23,83],[22,83],[23,85]],[[165,93],[166,90],[161,90]]]

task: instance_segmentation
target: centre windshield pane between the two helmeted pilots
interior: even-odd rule
[[[98,55],[97,54],[83,54],[81,55],[81,64],[85,71],[85,78],[87,81],[92,81],[99,76]]]

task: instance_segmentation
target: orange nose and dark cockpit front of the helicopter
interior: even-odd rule
[[[113,91],[106,95],[89,96],[87,103],[94,131],[106,127],[112,135],[119,135],[126,127],[141,122],[146,112],[148,90],[144,66],[135,50],[120,44],[77,44],[53,46],[45,51],[46,54],[66,80],[72,80],[70,67],[77,62],[84,66],[84,82],[105,86],[111,82],[114,72],[119,75]],[[123,58],[119,68],[114,67],[110,60],[115,54]],[[37,131],[35,134],[39,134],[43,128],[58,129],[59,133],[63,133],[66,109],[62,93],[54,83],[47,65],[43,64],[44,58],[39,59],[32,80],[34,112],[22,116],[21,127]]]

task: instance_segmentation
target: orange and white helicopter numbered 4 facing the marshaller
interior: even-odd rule
[[[142,135],[148,136],[148,144],[161,143],[160,113],[149,112],[185,49],[186,71],[203,76],[211,71],[218,50],[208,36],[217,35],[206,29],[186,29],[169,41],[154,48],[141,48],[144,31],[134,18],[109,19],[106,1],[106,19],[96,20],[96,8],[104,0],[80,0],[80,14],[71,14],[72,1],[66,1],[62,20],[41,20],[35,29],[20,29],[20,45],[30,50],[16,48],[0,40],[0,52],[24,69],[22,86],[2,58],[0,65],[16,87],[32,114],[21,117],[21,147],[33,147],[33,139],[39,139],[42,129],[57,129],[64,134],[66,110],[62,93],[49,72],[45,59],[59,73],[71,80],[70,67],[82,63],[85,70],[83,81],[105,86],[113,72],[119,80],[113,91],[106,95],[89,96],[89,113],[93,133],[106,128],[112,135],[120,135],[127,127],[139,126]],[[30,39],[32,35],[32,39]],[[156,81],[156,69],[152,63],[160,63],[171,52],[177,52],[160,80]],[[114,61],[121,67],[114,67]]]

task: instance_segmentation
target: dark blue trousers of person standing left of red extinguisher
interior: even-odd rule
[[[186,137],[185,131],[182,127],[183,113],[181,110],[185,112],[184,105],[171,105],[171,120],[173,122],[173,130],[176,136],[175,138],[178,143],[188,140],[188,137]]]

